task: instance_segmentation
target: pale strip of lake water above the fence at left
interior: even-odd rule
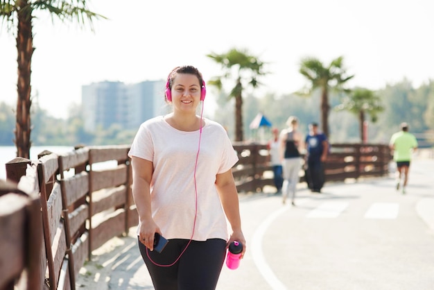
[[[37,155],[44,150],[53,153],[65,153],[73,151],[73,146],[32,146],[30,149],[30,159],[37,160]],[[6,179],[6,163],[16,157],[17,148],[15,146],[0,146],[0,179]]]

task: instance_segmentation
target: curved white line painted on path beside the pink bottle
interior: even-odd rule
[[[263,257],[262,252],[262,239],[265,234],[268,226],[274,221],[277,216],[283,214],[286,210],[288,210],[288,206],[281,207],[280,210],[273,212],[259,225],[259,228],[254,232],[252,238],[252,257],[253,262],[256,264],[259,269],[259,273],[263,276],[263,278],[267,281],[270,287],[273,290],[286,290],[285,285],[277,279],[276,275],[272,273],[271,268],[268,266],[265,257]]]

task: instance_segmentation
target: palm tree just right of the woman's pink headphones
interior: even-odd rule
[[[236,80],[229,98],[235,99],[235,141],[243,141],[243,89],[248,85],[252,87],[260,85],[257,78],[264,75],[264,63],[259,58],[251,56],[247,50],[230,49],[223,54],[209,53],[207,57],[217,62],[223,69],[223,76],[211,78],[209,85],[214,85],[221,91],[223,79]]]

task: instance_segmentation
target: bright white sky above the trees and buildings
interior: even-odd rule
[[[32,92],[53,117],[81,103],[81,87],[104,80],[165,79],[178,65],[198,67],[207,81],[221,74],[208,53],[246,49],[266,62],[258,97],[302,89],[300,60],[325,65],[338,56],[354,79],[380,89],[404,78],[434,80],[432,0],[90,0],[107,17],[94,32],[38,12],[33,20]],[[0,102],[16,104],[15,37],[0,26]],[[217,92],[208,88],[207,100]]]

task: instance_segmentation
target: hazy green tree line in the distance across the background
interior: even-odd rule
[[[409,80],[404,79],[399,83],[386,85],[374,93],[381,99],[384,110],[378,113],[375,123],[367,120],[368,142],[387,143],[390,135],[399,130],[399,123],[402,121],[410,124],[411,133],[434,132],[434,80],[415,88]],[[229,136],[234,139],[233,102],[235,100],[228,101],[227,98],[227,94],[221,92],[216,100],[218,108],[214,115],[206,117],[215,119],[225,126]],[[329,96],[331,107],[329,135],[332,143],[361,142],[358,116],[347,110],[338,110],[339,106],[345,103],[345,98],[345,93]],[[258,112],[264,114],[272,122],[273,127],[279,129],[285,128],[286,119],[290,115],[295,115],[300,119],[300,130],[306,134],[307,126],[311,121],[320,121],[319,103],[319,91],[311,97],[272,93],[261,97],[245,96],[243,106],[245,141],[261,141],[258,131],[249,128]],[[114,125],[107,130],[96,130],[96,133],[87,133],[79,105],[69,108],[67,119],[53,118],[36,105],[33,106],[31,114],[33,119],[31,140],[35,146],[131,144],[136,133],[136,130],[124,130],[119,125]],[[14,108],[6,103],[0,103],[1,146],[14,145],[14,128]],[[271,137],[270,128],[263,128],[263,131],[266,137]]]

